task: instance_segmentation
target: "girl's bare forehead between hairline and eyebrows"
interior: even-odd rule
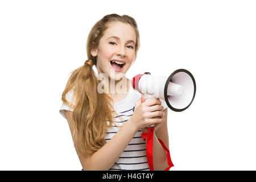
[[[128,23],[111,22],[105,30],[104,38],[108,39],[110,36],[116,36],[123,41],[133,40],[136,42],[136,34],[134,28]]]

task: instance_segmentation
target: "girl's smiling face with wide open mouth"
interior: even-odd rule
[[[112,80],[120,80],[135,59],[136,34],[130,24],[111,22],[100,39],[97,49],[91,51],[97,56],[98,74],[105,73]],[[113,60],[125,63],[113,63]]]

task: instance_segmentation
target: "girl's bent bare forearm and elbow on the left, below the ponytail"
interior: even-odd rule
[[[69,129],[71,134],[73,133],[74,121],[72,118],[72,111],[66,111],[65,115],[68,120]],[[79,156],[80,163],[84,170],[109,170],[114,163],[117,161],[119,156],[125,150],[127,145],[133,139],[134,135],[137,133],[137,129],[128,120],[121,129],[114,135],[112,139],[109,140],[100,150],[95,152],[92,156],[88,158],[83,158],[78,147],[76,147],[77,155]],[[73,139],[73,135],[72,135]],[[73,140],[74,141],[74,140]],[[118,147],[117,147],[118,146]]]

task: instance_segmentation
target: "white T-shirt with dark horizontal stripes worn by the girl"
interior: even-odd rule
[[[69,102],[71,102],[72,98],[72,90],[67,93],[66,98]],[[135,103],[141,99],[141,93],[135,91],[131,86],[129,89],[129,93],[127,96],[120,102],[115,102],[113,107],[118,115],[115,115],[114,122],[115,125],[121,126],[123,123],[127,122],[128,119],[134,113]],[[160,100],[162,102],[162,106],[164,109],[167,108],[166,102],[164,100]],[[73,102],[75,104],[75,102]],[[71,110],[66,104],[62,104],[60,107],[60,114],[64,115],[63,110]],[[119,118],[121,117],[121,118]],[[123,121],[123,122],[122,122]],[[108,121],[107,121],[108,122]],[[115,126],[108,127],[107,133],[105,135],[106,142],[109,142],[110,139],[119,131],[120,127]],[[142,131],[139,130],[134,135],[131,142],[127,145],[125,150],[119,156],[118,160],[114,163],[114,165],[109,169],[111,171],[123,171],[123,170],[141,170],[141,171],[149,171],[148,163],[147,163],[147,155],[146,155],[146,142],[141,137]],[[118,147],[118,146],[117,146]]]

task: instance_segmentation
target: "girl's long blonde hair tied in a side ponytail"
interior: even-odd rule
[[[90,51],[97,48],[104,31],[108,29],[108,23],[122,22],[130,24],[136,34],[135,59],[140,46],[137,23],[128,15],[109,14],[98,20],[88,35],[86,51],[88,60],[84,65],[72,71],[65,86],[61,100],[73,108],[73,121],[75,129],[73,135],[74,144],[79,148],[83,156],[91,156],[106,143],[104,140],[107,127],[112,126],[114,108],[112,98],[106,93],[98,93],[97,75],[93,71],[93,65],[97,66],[97,56],[93,57]],[[68,102],[66,94],[73,89],[75,105]],[[109,125],[108,122],[109,121]]]

